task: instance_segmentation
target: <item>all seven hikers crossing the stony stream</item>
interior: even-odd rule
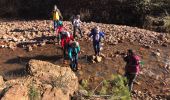
[[[76,32],[80,34],[81,38],[83,37],[82,31],[81,31],[81,20],[80,15],[77,15],[72,20],[73,25],[73,34],[67,31],[67,29],[64,27],[62,22],[62,15],[57,8],[57,6],[54,6],[53,10],[53,22],[54,22],[54,32],[57,35],[58,43],[61,45],[63,49],[63,56],[64,56],[64,62],[67,58],[70,60],[70,67],[73,71],[78,70],[78,54],[80,53],[80,45],[76,41]],[[100,30],[98,26],[91,29],[91,33],[88,35],[89,38],[93,39],[93,48],[95,52],[95,56],[100,56],[100,42],[101,39],[104,38],[104,32]],[[139,74],[139,66],[140,66],[140,58],[137,56],[134,52],[134,50],[129,49],[127,51],[127,54],[123,55],[123,59],[126,62],[125,66],[125,77],[128,79],[128,86],[129,91],[132,90],[133,82],[136,78],[136,76]]]

